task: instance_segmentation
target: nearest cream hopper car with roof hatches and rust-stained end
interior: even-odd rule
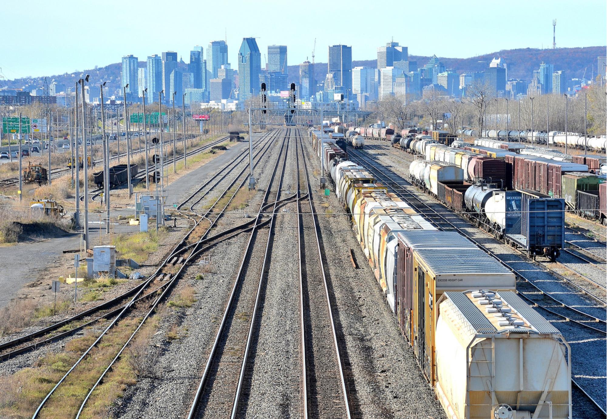
[[[571,349],[514,291],[447,291],[436,393],[451,419],[571,418]]]

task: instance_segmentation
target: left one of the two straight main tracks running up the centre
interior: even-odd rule
[[[206,412],[234,418],[239,410],[249,348],[253,338],[252,331],[259,315],[257,310],[265,279],[268,254],[271,249],[276,210],[282,200],[280,192],[287,165],[287,152],[283,152],[283,149],[287,144],[288,151],[289,134],[287,131],[280,145],[279,155],[274,163],[259,212],[255,217],[222,320],[215,333],[214,342],[206,355],[207,361],[197,389],[192,396],[188,419],[203,417]],[[280,174],[278,180],[276,179],[277,173]],[[273,188],[273,184],[276,182],[277,188]],[[272,192],[273,189],[274,192]],[[260,227],[262,227],[263,216],[266,209],[269,208],[271,208],[270,226],[268,229],[262,230]],[[259,245],[264,242],[265,247]],[[257,267],[256,264],[259,264],[260,261],[261,265]],[[246,321],[242,321],[243,318]]]

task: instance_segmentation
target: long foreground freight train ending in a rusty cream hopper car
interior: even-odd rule
[[[447,416],[571,418],[571,350],[515,293],[514,274],[436,230],[344,150],[310,140]]]

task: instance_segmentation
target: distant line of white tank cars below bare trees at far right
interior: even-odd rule
[[[478,134],[481,135],[478,135]],[[506,138],[507,140],[526,141],[527,143],[535,144],[555,144],[564,146],[565,143],[572,148],[583,149],[587,146],[591,150],[605,151],[607,145],[607,137],[605,135],[599,136],[585,136],[578,132],[560,132],[560,131],[506,131],[495,129],[487,129],[478,131],[476,129],[461,129],[458,130],[458,134],[464,137],[486,137],[486,138]]]

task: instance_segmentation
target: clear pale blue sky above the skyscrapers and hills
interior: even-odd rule
[[[195,45],[225,39],[229,61],[243,36],[259,48],[288,46],[288,64],[311,53],[327,62],[327,46],[352,46],[353,60],[376,58],[376,48],[392,37],[413,55],[466,58],[518,47],[606,43],[605,0],[459,1],[166,1],[48,0],[4,1],[0,5],[0,67],[7,79],[53,75],[117,63],[134,54],[174,50],[189,61]],[[334,10],[337,4],[343,11]],[[371,9],[373,7],[373,9]]]

